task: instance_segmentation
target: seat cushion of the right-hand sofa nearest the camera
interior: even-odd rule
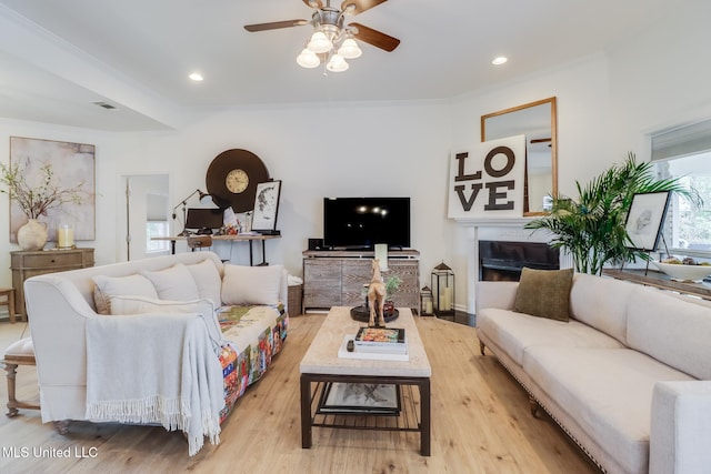
[[[658,381],[690,380],[630,349],[529,347],[523,370],[628,473],[647,473],[652,390]]]

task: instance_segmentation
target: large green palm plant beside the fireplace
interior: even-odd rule
[[[652,167],[651,162],[638,163],[630,152],[622,164],[613,164],[587,185],[575,182],[577,200],[552,196],[551,213],[530,221],[525,229],[551,232],[551,246],[570,252],[581,273],[601,274],[608,262],[649,260],[647,252],[630,246],[624,225],[634,194],[674,191],[700,204],[698,194],[677,178],[655,179]]]

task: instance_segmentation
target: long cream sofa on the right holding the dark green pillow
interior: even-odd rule
[[[711,307],[574,274],[570,320],[513,311],[518,282],[479,282],[477,333],[609,473],[711,472]]]

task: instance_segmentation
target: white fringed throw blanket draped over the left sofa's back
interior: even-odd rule
[[[87,418],[160,423],[188,436],[189,455],[220,442],[222,367],[198,314],[87,321]]]

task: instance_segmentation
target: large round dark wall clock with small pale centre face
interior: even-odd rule
[[[218,154],[206,175],[208,193],[217,198],[216,201],[229,203],[238,213],[252,210],[257,184],[264,181],[269,181],[269,171],[262,160],[242,149]]]

